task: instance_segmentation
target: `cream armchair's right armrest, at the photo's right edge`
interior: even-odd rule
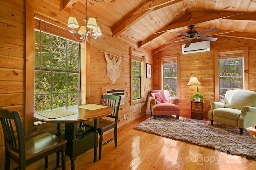
[[[256,125],[256,107],[244,106],[238,118],[238,127],[254,127]]]

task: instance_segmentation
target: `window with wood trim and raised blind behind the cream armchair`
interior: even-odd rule
[[[248,90],[248,48],[220,50],[215,57],[215,100],[224,100],[227,90]]]

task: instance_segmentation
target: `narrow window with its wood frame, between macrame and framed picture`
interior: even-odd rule
[[[145,54],[130,48],[131,104],[144,102]]]

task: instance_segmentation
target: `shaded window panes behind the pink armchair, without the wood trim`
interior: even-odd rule
[[[170,96],[178,96],[178,64],[177,60],[162,60],[163,89],[170,91]]]

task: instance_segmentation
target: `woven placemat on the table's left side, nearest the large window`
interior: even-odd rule
[[[75,115],[76,113],[73,111],[68,111],[64,109],[57,109],[57,110],[50,110],[50,111],[44,111],[39,112],[38,115],[47,117],[48,119],[56,119],[59,117],[65,117],[69,115]]]

